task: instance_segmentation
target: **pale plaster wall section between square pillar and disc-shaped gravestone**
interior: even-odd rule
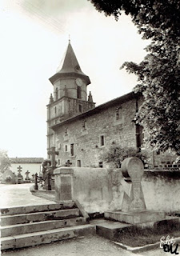
[[[120,170],[106,168],[74,167],[74,199],[84,206],[88,213],[121,209],[122,186]]]

